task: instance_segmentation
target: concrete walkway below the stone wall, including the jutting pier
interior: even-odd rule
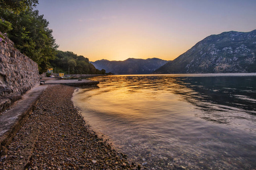
[[[42,80],[45,81],[43,85],[32,88],[32,90],[22,96],[22,99],[13,105],[13,108],[4,112],[0,117],[0,156],[6,154],[6,147],[10,144],[19,129],[24,125],[40,95],[46,90],[48,84],[64,84],[67,86],[82,87],[95,86],[99,83],[98,81],[86,79],[62,80],[43,78]]]

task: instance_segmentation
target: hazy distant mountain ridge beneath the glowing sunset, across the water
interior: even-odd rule
[[[92,63],[98,70],[106,70],[113,74],[150,74],[168,61],[159,58],[137,59],[128,58],[125,61],[97,60]]]

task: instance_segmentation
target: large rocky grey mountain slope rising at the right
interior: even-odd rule
[[[210,35],[155,70],[171,73],[256,73],[256,29]]]

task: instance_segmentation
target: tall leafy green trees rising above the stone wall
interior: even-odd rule
[[[36,3],[37,0],[0,0],[0,31],[7,32],[15,47],[38,63],[39,73],[44,73],[49,60],[55,58],[57,45],[52,29],[48,28],[49,22],[38,10],[32,10]],[[6,28],[3,22],[10,24]]]

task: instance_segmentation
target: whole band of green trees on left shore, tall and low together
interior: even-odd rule
[[[38,63],[39,73],[56,67],[57,73],[105,74],[89,59],[72,52],[58,51],[49,22],[33,10],[38,0],[0,0],[0,31],[11,39],[15,48]],[[55,71],[56,72],[56,71]]]

